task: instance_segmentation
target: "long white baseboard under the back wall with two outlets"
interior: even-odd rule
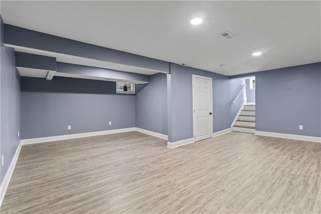
[[[51,141],[60,141],[60,140],[68,140],[68,139],[74,139],[74,138],[84,138],[84,137],[91,137],[91,136],[97,136],[97,135],[108,135],[108,134],[116,134],[116,133],[122,133],[122,132],[132,132],[132,131],[136,131],[136,129],[133,127],[133,128],[127,128],[127,129],[114,129],[114,130],[87,132],[87,133],[79,133],[79,134],[72,134],[72,135],[32,138],[32,139],[25,139],[21,141],[22,141],[22,145],[27,145],[27,144],[34,144],[34,143],[45,143],[45,142],[51,142]]]

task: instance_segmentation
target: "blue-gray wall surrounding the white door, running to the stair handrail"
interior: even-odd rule
[[[230,80],[225,75],[171,63],[170,142],[193,138],[193,74],[212,78],[213,132],[230,128],[244,101],[240,96],[232,104],[234,96],[245,83],[244,79]]]

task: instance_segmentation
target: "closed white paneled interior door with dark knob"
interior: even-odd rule
[[[193,127],[195,141],[212,137],[212,78],[193,75]]]

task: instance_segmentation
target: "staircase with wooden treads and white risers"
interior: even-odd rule
[[[235,122],[233,131],[255,133],[255,104],[244,105],[244,110],[241,111],[239,119]]]

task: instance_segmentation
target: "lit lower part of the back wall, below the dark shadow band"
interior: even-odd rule
[[[22,92],[23,139],[131,127],[135,127],[133,95]]]

